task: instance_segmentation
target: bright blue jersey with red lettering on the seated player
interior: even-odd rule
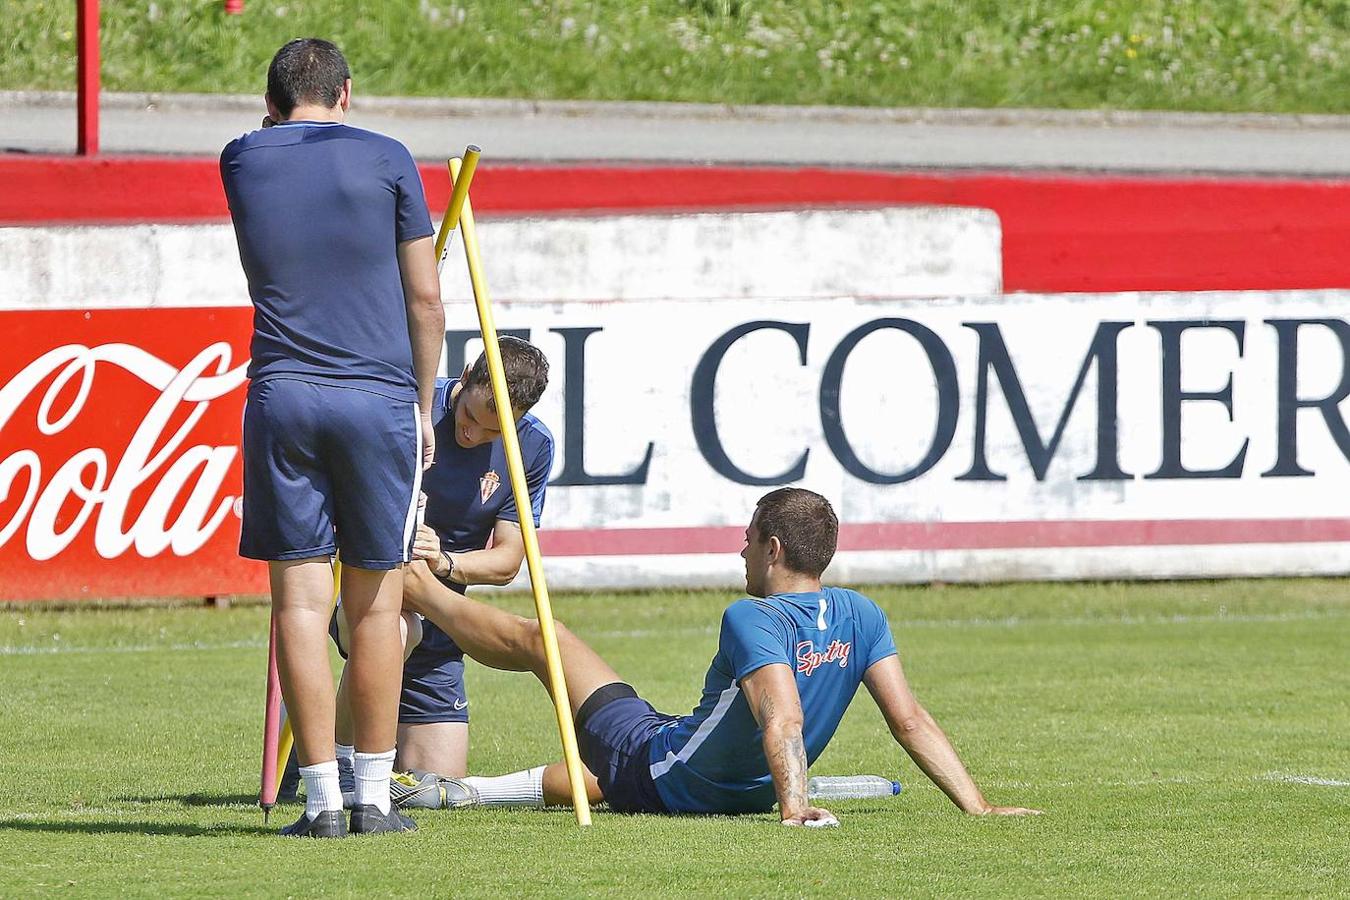
[[[886,613],[856,591],[826,587],[729,606],[703,699],[648,745],[652,781],[666,808],[763,812],[778,800],[741,679],[772,663],[792,667],[810,764],[834,735],[863,673],[894,654]]]

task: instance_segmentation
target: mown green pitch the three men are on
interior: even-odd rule
[[[986,793],[1037,819],[957,812],[864,694],[813,770],[898,776],[906,792],[837,804],[834,831],[598,811],[579,833],[567,811],[424,811],[416,835],[340,843],[274,837],[254,806],[265,607],[9,607],[0,896],[1343,896],[1347,587],[872,591]],[[556,607],[657,707],[683,711],[730,599]],[[532,677],[471,665],[468,683],[475,770],[556,756]]]

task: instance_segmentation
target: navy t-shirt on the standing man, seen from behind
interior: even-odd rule
[[[433,233],[408,150],[340,123],[236,138],[220,179],[254,302],[248,376],[417,399],[397,246]]]

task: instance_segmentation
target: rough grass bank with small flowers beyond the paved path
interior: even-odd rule
[[[11,0],[0,89],[74,85],[74,0]],[[367,94],[1350,112],[1346,0],[105,3],[105,86],[262,90],[289,38]]]

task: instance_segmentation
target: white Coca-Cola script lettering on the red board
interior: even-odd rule
[[[61,434],[81,417],[97,417],[89,401],[100,372],[109,367],[130,372],[159,395],[116,459],[109,459],[107,447],[94,445],[63,460],[22,447],[0,460],[0,548],[22,533],[31,559],[50,560],[92,521],[93,548],[104,559],[128,549],[142,557],[200,549],[235,503],[223,495],[223,484],[239,448],[193,445],[189,437],[212,401],[243,385],[247,362],[232,368],[232,355],[228,343],[213,343],[176,368],[131,344],[68,344],[14,375],[0,387],[0,430],[42,391],[32,422],[42,437]],[[132,497],[143,487],[148,498],[135,507]]]

